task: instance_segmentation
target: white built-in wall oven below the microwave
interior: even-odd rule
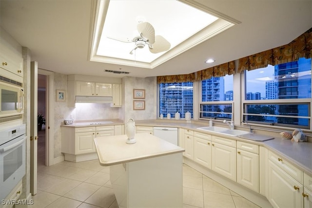
[[[25,134],[25,124],[0,131],[0,199],[5,199],[26,174]]]

